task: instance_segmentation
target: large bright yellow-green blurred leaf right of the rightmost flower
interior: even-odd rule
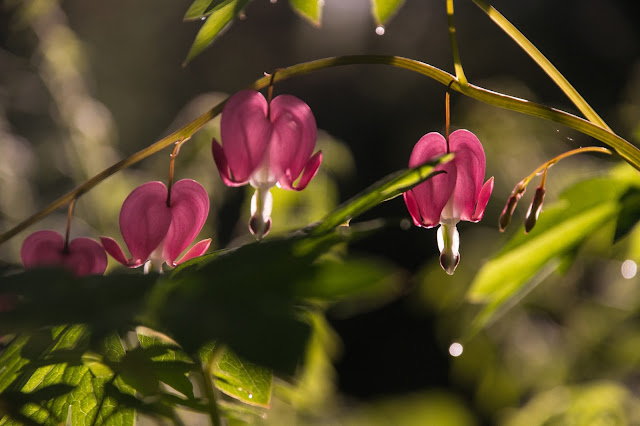
[[[545,209],[528,235],[516,235],[476,275],[467,298],[485,306],[473,321],[476,333],[505,307],[551,273],[592,233],[620,211],[620,197],[631,181],[597,178],[569,188]]]

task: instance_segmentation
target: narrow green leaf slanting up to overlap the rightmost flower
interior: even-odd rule
[[[348,223],[355,216],[366,212],[381,202],[390,200],[410,190],[439,173],[433,172],[433,169],[438,164],[447,163],[452,159],[453,154],[445,154],[422,166],[387,175],[330,213],[311,231],[311,235],[320,235],[336,226]]]

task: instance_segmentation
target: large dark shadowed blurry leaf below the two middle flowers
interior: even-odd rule
[[[300,254],[299,241],[271,239],[177,268],[151,294],[148,321],[189,354],[214,339],[251,362],[293,374],[309,333],[294,288],[313,273],[318,255]]]

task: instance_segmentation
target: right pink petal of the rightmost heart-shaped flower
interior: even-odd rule
[[[449,136],[451,152],[458,172],[453,194],[454,216],[473,221],[485,172],[485,155],[478,138],[468,130],[456,130]]]

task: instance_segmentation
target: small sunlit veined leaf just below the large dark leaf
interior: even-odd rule
[[[214,365],[215,386],[245,404],[268,407],[271,401],[271,370],[238,358],[225,349]]]

